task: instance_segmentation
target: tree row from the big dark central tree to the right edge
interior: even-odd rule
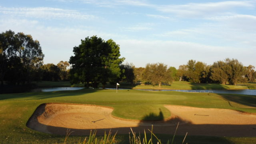
[[[86,87],[104,88],[107,83],[126,82],[130,84],[172,84],[173,81],[193,83],[219,83],[236,85],[238,82],[254,82],[254,66],[243,66],[236,59],[226,58],[207,65],[204,62],[189,60],[187,64],[168,67],[163,63],[146,64],[136,68],[133,64],[122,64],[119,45],[113,40],[104,41],[97,36],[81,40],[73,48],[75,56],[70,57],[70,80],[82,82]]]

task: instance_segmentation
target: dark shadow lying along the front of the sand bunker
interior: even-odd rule
[[[45,111],[45,104],[41,104],[38,107],[41,107],[40,110],[36,110],[34,114],[28,120],[26,126],[28,128],[38,130],[40,132],[46,132],[49,134],[59,134],[66,135],[67,129],[70,129],[72,135],[89,135],[91,129],[72,129],[56,126],[48,126],[38,122],[37,117],[42,115]],[[38,108],[37,108],[38,109]],[[150,114],[148,115],[150,116]],[[145,117],[148,117],[145,116]],[[160,114],[157,116],[161,117]],[[232,125],[232,124],[192,124],[188,121],[184,121],[179,117],[171,118],[168,120],[162,121],[141,121],[138,126],[132,127],[132,130],[137,134],[149,132],[148,129],[151,129],[152,125],[154,126],[154,134],[174,134],[176,126],[180,123],[178,127],[177,135],[185,135],[186,132],[190,136],[232,136],[232,137],[245,137],[245,136],[256,136],[256,124],[250,125]],[[96,122],[92,122],[95,124]],[[120,127],[120,128],[95,128],[97,130],[97,135],[103,135],[104,132],[111,130],[112,133],[118,132],[118,134],[128,134],[130,132],[130,127]]]

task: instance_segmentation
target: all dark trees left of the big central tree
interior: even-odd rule
[[[0,34],[0,83],[30,84],[33,81],[68,80],[68,62],[43,64],[44,54],[38,40],[12,30]]]

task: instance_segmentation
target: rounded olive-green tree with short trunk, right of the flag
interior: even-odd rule
[[[161,87],[161,84],[171,83],[172,77],[170,72],[167,70],[167,65],[158,63],[158,64],[147,64],[143,73],[144,80],[147,80],[152,83],[152,85],[158,84]]]

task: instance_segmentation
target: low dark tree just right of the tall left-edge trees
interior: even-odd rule
[[[59,81],[60,80],[60,68],[55,64],[44,64],[41,67],[42,80],[46,81]]]

